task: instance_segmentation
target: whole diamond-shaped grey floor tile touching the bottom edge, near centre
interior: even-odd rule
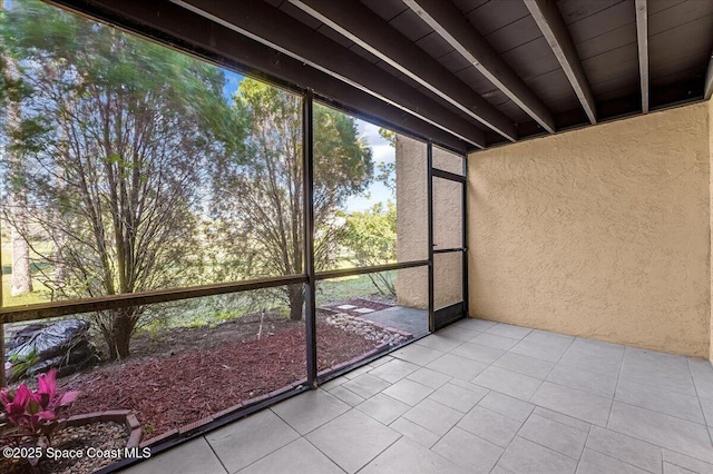
[[[401,435],[358,409],[313,431],[306,438],[348,473],[367,465]]]

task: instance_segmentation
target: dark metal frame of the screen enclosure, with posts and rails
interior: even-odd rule
[[[432,168],[432,147],[434,146],[434,141],[428,139],[428,137],[422,137],[410,132],[409,130],[404,130],[399,126],[394,126],[388,121],[380,119],[379,117],[371,117],[360,112],[359,110],[351,108],[349,106],[341,105],[334,100],[331,100],[326,97],[319,96],[315,91],[311,89],[301,88],[294,83],[285,82],[284,80],[274,78],[270,75],[265,75],[263,72],[252,70],[243,65],[235,63],[234,61],[229,61],[226,58],[223,58],[218,55],[192,48],[191,45],[185,43],[182,40],[173,38],[167,34],[157,34],[156,31],[144,28],[141,26],[127,23],[123,21],[120,18],[107,18],[101,14],[100,11],[92,10],[92,8],[80,1],[71,1],[71,0],[49,0],[50,4],[59,7],[61,9],[70,9],[74,14],[86,16],[90,18],[92,21],[102,21],[115,28],[127,31],[130,34],[137,34],[148,41],[158,42],[159,45],[172,48],[180,51],[182,53],[186,53],[189,56],[194,56],[203,61],[208,61],[218,67],[226,68],[233,71],[236,71],[241,75],[245,75],[246,77],[253,77],[264,82],[270,83],[271,86],[279,87],[281,89],[287,90],[290,92],[296,93],[302,97],[303,108],[302,108],[302,120],[303,120],[303,166],[304,166],[304,177],[303,177],[303,197],[304,197],[304,209],[303,209],[303,221],[304,221],[304,255],[305,255],[305,266],[302,274],[299,275],[286,275],[279,277],[267,277],[267,278],[257,278],[251,280],[243,282],[228,282],[221,284],[212,284],[212,285],[202,285],[202,286],[193,286],[193,287],[180,287],[180,288],[168,288],[160,290],[152,290],[152,292],[143,292],[135,294],[124,294],[124,295],[107,295],[101,297],[94,298],[82,298],[82,299],[74,299],[74,300],[60,300],[60,302],[50,302],[50,303],[40,303],[25,306],[3,306],[3,295],[2,295],[2,285],[0,285],[0,355],[4,355],[4,324],[8,323],[18,323],[18,322],[27,322],[27,320],[42,320],[58,316],[67,316],[72,314],[81,314],[81,313],[90,313],[96,310],[106,310],[106,309],[116,309],[128,306],[136,305],[152,305],[159,304],[166,302],[178,302],[184,299],[199,298],[206,296],[214,295],[224,295],[224,294],[235,294],[242,292],[248,292],[254,289],[262,288],[271,288],[276,286],[285,286],[285,285],[304,285],[305,289],[305,356],[307,362],[307,368],[304,381],[297,381],[292,386],[283,387],[272,394],[272,396],[262,399],[250,406],[242,406],[237,408],[235,412],[225,414],[219,418],[216,418],[205,425],[202,425],[192,431],[187,431],[184,433],[179,433],[174,437],[166,438],[158,444],[152,446],[152,454],[156,455],[166,450],[169,450],[178,444],[183,444],[187,441],[191,441],[197,436],[201,436],[209,431],[216,429],[226,424],[233,423],[240,418],[251,415],[260,409],[268,407],[277,402],[286,399],[296,394],[303,393],[309,389],[314,389],[318,387],[318,365],[316,365],[316,302],[315,302],[315,288],[316,282],[343,277],[343,276],[353,276],[353,275],[365,275],[378,271],[387,271],[387,270],[398,270],[404,268],[414,268],[414,267],[427,267],[428,268],[428,304],[429,304],[429,332],[434,330],[433,326],[433,314],[434,314],[434,300],[433,300],[433,255],[438,251],[433,251],[432,243],[433,243],[433,206],[432,206],[432,179],[434,176],[439,176],[441,171],[434,170]],[[401,261],[395,264],[387,264],[387,265],[378,265],[370,267],[352,267],[345,269],[338,270],[326,270],[326,271],[315,271],[314,268],[314,206],[313,206],[313,187],[314,187],[314,160],[313,160],[313,105],[314,100],[319,100],[320,102],[335,108],[336,110],[346,112],[352,115],[355,118],[370,121],[372,124],[383,126],[390,128],[401,135],[409,136],[419,141],[424,141],[427,144],[427,192],[428,192],[428,259],[426,260],[410,260],[410,261]],[[439,148],[442,148],[451,154],[456,154],[463,157],[463,166],[465,165],[465,156],[460,150],[456,150],[452,147],[449,147],[443,144],[438,144]],[[443,171],[447,172],[447,171]],[[458,175],[453,175],[458,176]],[[462,177],[460,177],[462,178]],[[465,178],[462,180],[465,186]],[[463,187],[463,206],[465,206],[465,187]],[[466,238],[466,214],[463,207],[463,239]],[[465,240],[463,240],[465,241]],[[466,264],[463,253],[463,264]],[[0,267],[2,266],[2,260],[0,256]],[[467,292],[467,266],[463,265],[463,290]],[[0,276],[0,279],[2,276]],[[466,295],[466,293],[463,293]],[[467,308],[467,298],[466,298],[466,308]],[[412,340],[411,340],[412,342]],[[410,343],[410,342],[409,342]],[[398,347],[394,347],[394,349]],[[371,358],[380,357],[381,355],[372,356]],[[3,357],[2,357],[3,358]],[[329,374],[324,381],[332,378],[333,376],[340,375],[341,373],[348,372],[356,367],[358,365],[365,364],[371,361],[371,358],[365,358],[360,361],[359,363],[345,367],[339,371],[339,373]],[[3,382],[4,373],[0,375],[0,383]],[[136,464],[141,460],[123,460],[111,465],[102,468],[99,473],[111,473],[125,468],[129,465]]]

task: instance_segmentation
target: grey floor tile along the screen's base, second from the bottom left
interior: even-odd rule
[[[300,437],[297,432],[270,409],[258,412],[205,436],[231,473],[277,451],[297,437]]]

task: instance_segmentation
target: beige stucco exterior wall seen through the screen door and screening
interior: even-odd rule
[[[427,146],[409,137],[397,137],[397,259],[428,259]],[[461,172],[460,160],[433,148],[433,164]],[[461,246],[461,190],[459,184],[436,179],[433,184],[433,241],[436,248]],[[434,257],[436,308],[462,300],[460,255]],[[409,268],[397,271],[397,302],[401,306],[428,308],[428,271]]]

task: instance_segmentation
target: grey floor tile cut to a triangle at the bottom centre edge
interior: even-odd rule
[[[431,450],[402,437],[359,472],[359,474],[410,473],[467,474],[469,471],[451,463]]]

